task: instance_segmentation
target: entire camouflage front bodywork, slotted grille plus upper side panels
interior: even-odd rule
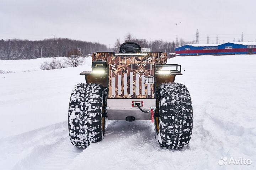
[[[148,52],[145,56],[119,56],[113,52],[93,53],[92,61],[108,63],[108,98],[154,99],[155,82],[145,84],[144,77],[155,77],[155,65],[166,64],[167,54]]]

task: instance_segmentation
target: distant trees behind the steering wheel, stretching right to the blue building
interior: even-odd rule
[[[175,53],[175,48],[177,46],[185,45],[185,44],[193,44],[194,41],[192,42],[186,42],[184,39],[179,39],[177,42],[166,42],[164,40],[153,40],[153,41],[148,41],[146,39],[138,39],[133,37],[130,33],[128,33],[124,37],[124,42],[135,42],[138,43],[142,48],[150,48],[151,51],[162,51],[162,52],[167,52],[167,53]],[[114,51],[118,52],[119,51],[119,46],[122,43],[120,42],[119,39],[116,40],[116,43],[114,45]]]

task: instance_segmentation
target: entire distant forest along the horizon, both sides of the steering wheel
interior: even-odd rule
[[[136,42],[142,48],[150,48],[151,51],[162,51],[167,53],[175,53],[175,47],[185,45],[187,43],[183,39],[177,42],[166,42],[163,40],[148,41],[146,39],[137,39],[131,34],[127,34],[124,38],[125,42]],[[106,45],[86,42],[79,40],[71,40],[68,38],[44,39],[38,41],[9,39],[0,40],[0,60],[17,60],[17,59],[36,59],[40,57],[60,57],[68,56],[69,51],[79,49],[82,54],[90,54],[96,51],[119,51],[122,43],[116,40],[114,48],[108,49]]]

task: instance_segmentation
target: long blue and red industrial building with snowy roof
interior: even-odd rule
[[[176,55],[231,55],[256,54],[256,42],[224,44],[186,44],[175,48]]]

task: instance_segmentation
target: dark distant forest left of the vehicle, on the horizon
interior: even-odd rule
[[[0,40],[0,60],[36,59],[39,57],[67,56],[69,51],[79,49],[82,54],[107,51],[106,45],[68,38],[31,40]]]

